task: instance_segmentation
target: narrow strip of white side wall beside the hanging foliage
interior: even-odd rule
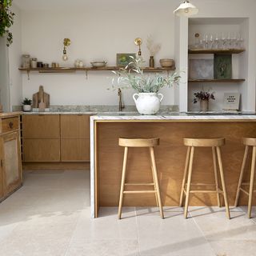
[[[10,31],[13,33],[14,42],[8,48],[10,72],[10,106],[21,105],[22,102],[22,74],[18,70],[22,54],[22,18],[21,10],[13,5],[14,25]]]

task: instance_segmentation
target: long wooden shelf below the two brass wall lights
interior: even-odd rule
[[[38,73],[74,73],[75,71],[85,71],[86,78],[88,71],[111,71],[120,70],[120,66],[104,66],[104,67],[48,67],[48,68],[23,68],[20,67],[18,70],[26,71],[28,79],[30,80],[30,71],[38,71]],[[144,67],[144,72],[164,72],[175,70],[175,67]]]

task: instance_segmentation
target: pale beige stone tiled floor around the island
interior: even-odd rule
[[[24,186],[0,204],[1,256],[253,256],[256,218],[246,207],[102,208],[90,218],[89,171],[30,171]],[[254,216],[256,210],[254,207]]]

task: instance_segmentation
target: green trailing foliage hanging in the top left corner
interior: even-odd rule
[[[0,0],[0,37],[7,35],[6,46],[13,42],[13,34],[9,31],[14,24],[14,13],[10,10],[12,0]]]

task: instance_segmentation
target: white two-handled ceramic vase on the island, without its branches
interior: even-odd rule
[[[136,96],[138,98],[136,98]],[[156,114],[160,109],[160,102],[162,102],[163,95],[156,93],[139,93],[134,94],[133,98],[139,114]]]

